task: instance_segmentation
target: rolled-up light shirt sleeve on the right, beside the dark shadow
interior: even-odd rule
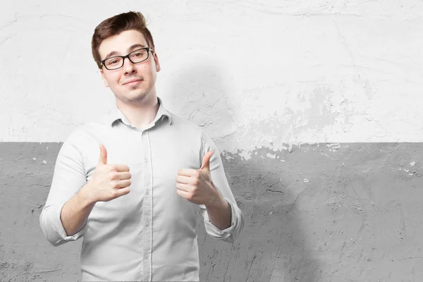
[[[212,157],[210,158],[210,174],[212,176],[212,181],[216,188],[221,192],[223,198],[231,206],[231,226],[221,230],[220,228],[214,226],[214,224],[209,220],[209,215],[207,214],[207,209],[204,204],[200,204],[200,207],[203,209],[202,216],[204,218],[204,227],[206,232],[213,238],[223,240],[228,243],[233,243],[236,238],[240,235],[240,232],[244,227],[244,218],[243,212],[240,210],[236,204],[235,197],[231,188],[229,187],[228,180],[226,179],[225,171],[223,170],[223,164],[220,157],[219,149],[217,149],[212,138],[207,135],[207,133],[202,130],[202,149],[200,154],[200,164],[204,154],[213,151]]]

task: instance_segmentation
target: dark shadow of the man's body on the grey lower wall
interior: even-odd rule
[[[319,281],[321,263],[298,208],[307,183],[291,175],[288,164],[278,165],[280,158],[266,157],[268,151],[256,149],[248,160],[221,155],[245,228],[228,245],[198,223],[202,281]]]

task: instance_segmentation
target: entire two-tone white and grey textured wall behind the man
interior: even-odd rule
[[[77,281],[39,228],[60,142],[109,111],[94,27],[149,19],[166,108],[204,126],[245,212],[198,226],[202,281],[423,281],[423,2],[8,1],[0,9],[0,281]]]

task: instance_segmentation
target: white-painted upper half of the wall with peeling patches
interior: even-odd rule
[[[159,97],[222,150],[423,141],[422,1],[38,2],[1,5],[0,141],[63,141],[109,111],[92,32],[130,10]]]

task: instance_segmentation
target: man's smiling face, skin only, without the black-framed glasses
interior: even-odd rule
[[[125,56],[136,49],[148,47],[144,35],[137,30],[125,30],[119,35],[104,39],[99,46],[102,60],[111,56]],[[109,56],[111,52],[115,54]],[[125,58],[123,67],[108,70],[100,69],[104,85],[110,87],[117,99],[125,103],[142,102],[149,94],[156,95],[157,72],[160,71],[157,54],[149,52],[149,58],[141,63],[132,63]]]

